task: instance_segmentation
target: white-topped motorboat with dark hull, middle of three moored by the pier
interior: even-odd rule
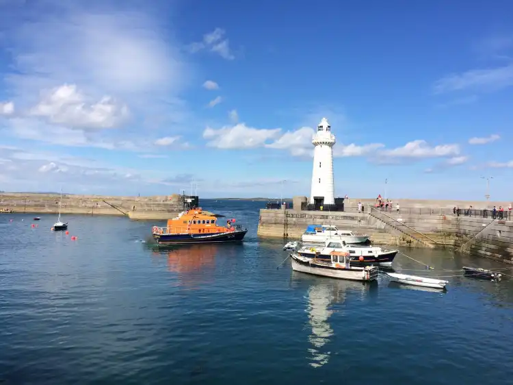
[[[313,258],[317,251],[319,252],[317,259],[330,260],[331,251],[341,251],[349,253],[352,264],[355,266],[373,264],[382,267],[392,266],[392,262],[399,252],[398,250],[387,250],[376,246],[345,245],[343,241],[340,243],[326,240],[324,247],[303,246],[298,250],[298,253]]]

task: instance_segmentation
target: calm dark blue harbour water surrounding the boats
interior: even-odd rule
[[[287,253],[257,238],[264,204],[202,201],[248,226],[243,245],[160,250],[142,242],[158,223],[66,215],[66,236],[55,216],[0,214],[0,382],[511,383],[513,279],[449,277],[433,293],[276,269]],[[505,267],[404,252],[436,267],[419,275]]]

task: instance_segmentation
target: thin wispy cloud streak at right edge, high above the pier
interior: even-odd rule
[[[476,69],[443,77],[434,83],[436,94],[458,90],[499,90],[513,86],[513,64],[494,69]]]

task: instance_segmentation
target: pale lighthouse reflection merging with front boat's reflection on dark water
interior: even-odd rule
[[[304,275],[301,273],[293,272],[293,280],[297,280],[298,283],[300,280],[305,282]],[[360,298],[375,295],[378,292],[378,284],[377,282],[369,284],[314,277],[311,277],[308,282],[311,282],[311,285],[306,295],[308,306],[305,311],[308,313],[308,323],[311,327],[308,341],[312,345],[308,348],[310,353],[308,359],[311,367],[318,368],[327,364],[330,359],[330,351],[325,346],[334,334],[328,320],[335,310],[330,309],[330,306],[335,303],[344,303],[348,293],[356,294]]]

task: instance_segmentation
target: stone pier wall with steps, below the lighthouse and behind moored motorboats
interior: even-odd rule
[[[446,213],[444,213],[446,212]],[[470,215],[469,215],[470,214]],[[513,264],[513,221],[475,212],[454,215],[452,210],[403,208],[384,212],[367,206],[359,212],[260,210],[258,235],[299,239],[307,225],[334,225],[370,236],[377,245],[447,247],[473,256]]]

